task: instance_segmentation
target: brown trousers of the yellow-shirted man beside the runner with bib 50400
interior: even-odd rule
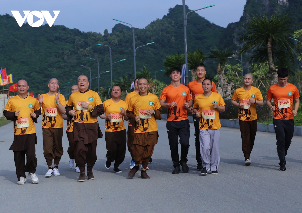
[[[239,126],[242,140],[242,152],[244,154],[244,159],[247,160],[254,147],[257,133],[257,119],[253,121],[239,121]]]

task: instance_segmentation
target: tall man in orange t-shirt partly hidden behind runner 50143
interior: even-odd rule
[[[202,82],[205,78],[205,75],[207,74],[206,67],[203,63],[199,63],[196,67],[195,74],[197,76],[197,79],[195,81],[191,81],[188,84],[188,88],[190,90],[190,93],[192,93],[192,99],[193,103],[195,100],[195,97],[199,94],[203,94],[204,90],[202,89]],[[212,81],[212,92],[217,92],[216,85]],[[194,122],[194,136],[195,136],[195,151],[196,151],[196,160],[197,160],[197,170],[202,170],[202,162],[201,162],[201,155],[200,155],[200,146],[199,146],[199,118],[196,117],[196,114],[193,112],[193,108],[189,108],[189,112],[192,114],[193,122]]]

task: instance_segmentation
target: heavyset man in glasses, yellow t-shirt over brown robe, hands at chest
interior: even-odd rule
[[[72,93],[66,104],[66,115],[73,123],[73,140],[76,141],[75,160],[80,168],[79,182],[85,181],[85,164],[87,178],[94,180],[92,168],[97,160],[96,146],[103,134],[98,125],[98,116],[104,114],[100,96],[89,90],[87,76],[78,77],[79,91]]]

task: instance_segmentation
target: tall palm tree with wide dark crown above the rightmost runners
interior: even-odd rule
[[[240,40],[247,42],[240,52],[245,53],[252,48],[254,63],[268,61],[270,85],[278,82],[275,63],[284,66],[288,65],[288,61],[294,62],[293,52],[298,51],[288,37],[291,27],[295,26],[290,23],[288,14],[272,15],[270,19],[262,15],[249,18],[244,26],[247,33]]]

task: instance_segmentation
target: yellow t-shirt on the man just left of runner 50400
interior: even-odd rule
[[[253,87],[249,90],[245,90],[240,87],[234,91],[232,100],[239,100],[239,103],[244,104],[244,109],[238,109],[238,119],[239,121],[253,121],[257,119],[256,104],[250,103],[249,98],[255,100],[262,100],[262,94],[257,87]]]

